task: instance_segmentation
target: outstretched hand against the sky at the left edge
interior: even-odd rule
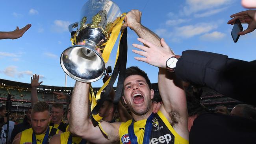
[[[19,29],[17,26],[14,31],[0,32],[0,39],[18,39],[31,27],[31,24],[27,24],[24,28]]]

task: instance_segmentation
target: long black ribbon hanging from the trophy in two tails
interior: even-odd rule
[[[117,63],[111,75],[111,79],[106,87],[106,90],[103,95],[100,96],[100,100],[95,105],[93,110],[91,111],[92,114],[97,114],[100,107],[104,103],[104,101],[108,98],[109,93],[111,92],[115,80],[119,74],[119,78],[117,81],[117,89],[115,91],[115,99],[114,104],[117,104],[120,100],[122,94],[122,87],[124,84],[124,76],[125,76],[125,69],[126,69],[126,61],[127,61],[127,28],[124,29],[120,44],[119,44],[119,56],[117,59]]]

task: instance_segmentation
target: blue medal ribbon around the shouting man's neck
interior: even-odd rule
[[[146,121],[145,133],[144,133],[144,137],[143,137],[143,144],[149,144],[153,117],[154,117],[154,113],[152,113]],[[128,135],[130,137],[132,144],[138,144],[137,137],[135,136],[135,133],[134,133],[134,120],[132,120],[132,123],[128,127]]]

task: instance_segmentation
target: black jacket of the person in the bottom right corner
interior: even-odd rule
[[[218,113],[199,115],[189,133],[189,144],[256,144],[256,121]]]

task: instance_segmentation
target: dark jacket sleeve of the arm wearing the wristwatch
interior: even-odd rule
[[[210,87],[228,97],[256,104],[256,63],[226,55],[186,50],[176,64],[183,81]]]

